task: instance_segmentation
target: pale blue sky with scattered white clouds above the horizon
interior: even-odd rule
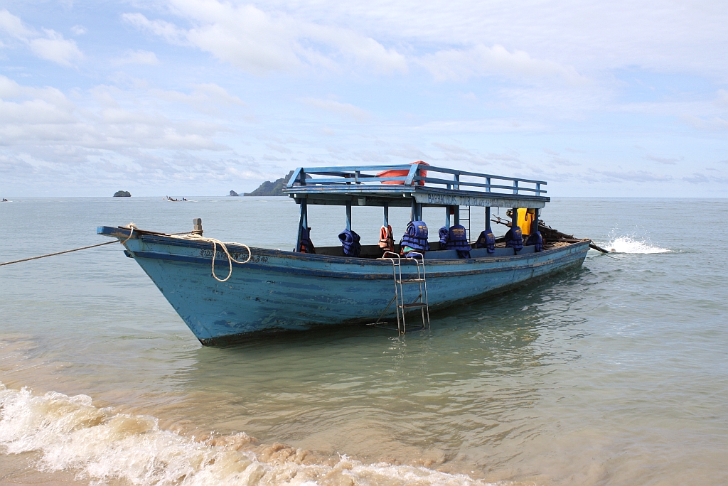
[[[726,25],[724,0],[0,0],[0,196],[424,160],[726,197]]]

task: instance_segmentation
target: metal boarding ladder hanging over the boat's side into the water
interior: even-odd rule
[[[395,252],[384,252],[384,255],[379,258],[379,260],[389,260],[392,262],[392,277],[395,283],[395,296],[392,297],[392,300],[389,300],[387,307],[384,308],[384,311],[381,311],[381,314],[379,314],[379,318],[376,319],[376,322],[373,325],[382,327],[380,326],[380,324],[386,324],[385,322],[381,322],[381,318],[384,316],[384,314],[387,313],[387,310],[389,310],[389,306],[392,306],[392,303],[396,303],[396,330],[398,335],[403,335],[407,331],[407,327],[405,324],[405,313],[410,309],[419,308],[420,313],[422,314],[422,327],[415,330],[424,330],[430,327],[430,306],[429,300],[427,300],[427,274],[424,270],[424,255],[417,252],[410,252],[409,254],[419,255],[419,258],[402,258]],[[403,278],[403,260],[410,260],[416,263],[417,276],[415,276],[414,278]],[[404,286],[408,284],[417,284],[419,288],[419,294],[412,302],[405,303]],[[395,330],[392,327],[385,327],[385,329]]]

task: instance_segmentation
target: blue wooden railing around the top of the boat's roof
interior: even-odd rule
[[[400,171],[399,175],[383,175],[383,172]],[[374,174],[367,172],[375,172]],[[423,175],[426,172],[426,175]],[[433,177],[430,174],[435,174]],[[313,175],[325,176],[314,178]],[[451,178],[448,178],[451,176]],[[463,180],[462,177],[475,180]],[[392,184],[394,182],[395,184]],[[389,184],[383,184],[389,183]],[[398,183],[398,184],[397,184]],[[358,191],[367,188],[381,187],[408,188],[416,190],[422,188],[421,183],[427,187],[440,187],[453,191],[478,191],[491,194],[521,194],[542,196],[547,191],[542,189],[547,183],[545,180],[532,180],[510,178],[502,175],[468,172],[465,170],[435,167],[426,164],[393,164],[393,165],[361,165],[346,167],[298,167],[288,180],[287,189],[299,186],[357,186],[352,187]],[[296,184],[298,184],[296,186]]]

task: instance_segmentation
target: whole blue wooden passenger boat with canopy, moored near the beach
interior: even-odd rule
[[[253,332],[321,325],[376,324],[405,332],[427,327],[430,309],[480,299],[582,264],[589,239],[564,239],[539,225],[539,211],[550,200],[545,184],[422,162],[301,167],[285,188],[300,206],[294,251],[222,244],[202,236],[199,220],[189,235],[130,226],[100,226],[98,234],[122,242],[127,256],[204,345],[232,343]],[[486,231],[491,207],[513,208],[511,226],[530,214],[531,228],[523,232],[534,237],[536,231],[543,233],[542,245],[516,249],[499,239],[492,248],[470,249],[470,258],[434,241],[430,250],[415,249],[409,258],[400,255],[400,245],[386,253],[378,245],[365,245],[358,256],[345,255],[344,247],[304,252],[309,204],[344,206],[347,230],[352,206],[382,207],[384,228],[389,207],[411,207],[413,221],[422,219],[422,207],[442,207],[444,228],[458,227],[461,208],[483,207]]]

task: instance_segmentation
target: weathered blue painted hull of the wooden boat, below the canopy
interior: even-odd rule
[[[517,256],[427,260],[430,307],[451,306],[580,266],[588,244]],[[387,260],[251,248],[250,262],[233,263],[231,278],[218,282],[210,274],[210,243],[141,235],[125,246],[205,345],[240,340],[250,332],[374,322],[394,295]],[[229,250],[238,260],[248,255],[233,245]],[[215,271],[223,277],[228,272],[228,260],[219,250]],[[403,265],[403,275],[410,272],[416,266]],[[411,292],[410,301],[417,294]]]

